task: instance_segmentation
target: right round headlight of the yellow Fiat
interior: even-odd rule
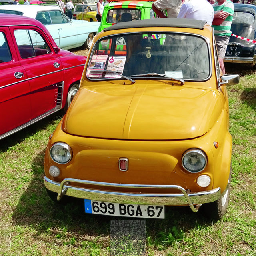
[[[200,149],[192,148],[182,156],[182,166],[188,172],[201,172],[207,164],[207,158]]]

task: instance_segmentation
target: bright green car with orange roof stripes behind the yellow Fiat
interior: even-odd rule
[[[152,1],[118,1],[104,6],[98,32],[118,22],[156,18]]]

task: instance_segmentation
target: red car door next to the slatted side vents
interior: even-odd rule
[[[17,54],[28,76],[31,116],[36,118],[58,108],[63,82],[62,63],[40,28],[12,27]]]

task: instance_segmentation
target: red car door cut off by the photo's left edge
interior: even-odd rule
[[[0,139],[31,118],[30,87],[8,27],[0,28]]]

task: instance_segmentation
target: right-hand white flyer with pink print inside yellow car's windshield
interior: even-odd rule
[[[112,70],[122,75],[124,72],[125,60],[126,60],[126,56],[110,56],[106,69]],[[111,72],[106,72],[105,78],[121,78],[120,75],[117,75]]]

